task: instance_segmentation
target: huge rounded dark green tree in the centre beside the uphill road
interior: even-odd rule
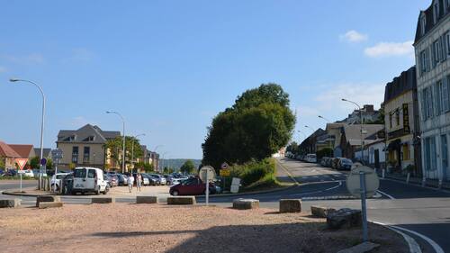
[[[247,90],[212,120],[202,144],[202,163],[219,168],[222,162],[243,164],[270,157],[291,139],[294,124],[289,95],[281,86]]]

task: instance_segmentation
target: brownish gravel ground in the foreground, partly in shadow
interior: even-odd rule
[[[375,252],[408,252],[404,239],[372,225]],[[337,252],[361,230],[331,231],[309,213],[162,204],[66,204],[0,210],[2,252]]]

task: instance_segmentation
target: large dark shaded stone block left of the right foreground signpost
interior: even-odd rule
[[[331,230],[360,227],[361,223],[361,210],[343,208],[327,216],[327,225]]]

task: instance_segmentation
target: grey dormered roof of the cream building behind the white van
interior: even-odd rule
[[[120,131],[103,131],[98,126],[86,124],[78,130],[61,130],[57,142],[104,143],[106,140],[121,136]]]

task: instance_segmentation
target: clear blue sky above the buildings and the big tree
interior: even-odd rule
[[[202,158],[217,113],[275,82],[296,130],[324,128],[414,65],[419,11],[431,0],[2,1],[0,140],[45,147],[86,123],[140,137],[165,158]],[[293,140],[302,140],[301,133]]]

